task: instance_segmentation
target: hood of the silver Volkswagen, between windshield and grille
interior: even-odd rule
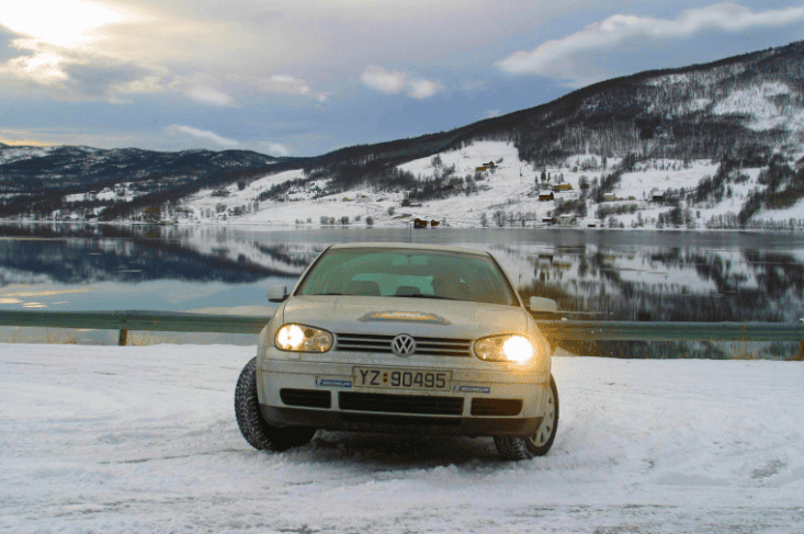
[[[282,322],[335,333],[410,333],[422,337],[479,338],[528,333],[529,314],[520,307],[461,300],[372,296],[292,297]]]

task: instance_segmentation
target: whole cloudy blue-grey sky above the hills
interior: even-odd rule
[[[314,156],[804,39],[802,0],[0,0],[0,141]]]

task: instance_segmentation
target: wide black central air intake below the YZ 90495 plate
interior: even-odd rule
[[[384,411],[388,413],[421,413],[430,416],[460,416],[463,397],[435,397],[426,395],[386,395],[367,393],[338,394],[341,410]]]

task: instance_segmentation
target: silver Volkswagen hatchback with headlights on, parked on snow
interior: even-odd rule
[[[492,436],[507,459],[553,445],[551,346],[489,253],[335,245],[269,299],[281,305],[235,395],[253,447],[318,429]]]

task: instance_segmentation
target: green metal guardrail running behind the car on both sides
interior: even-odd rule
[[[0,311],[0,326],[161,332],[260,333],[269,316],[174,311]],[[782,322],[632,322],[540,320],[547,338],[560,341],[789,341],[804,361],[804,325]]]

